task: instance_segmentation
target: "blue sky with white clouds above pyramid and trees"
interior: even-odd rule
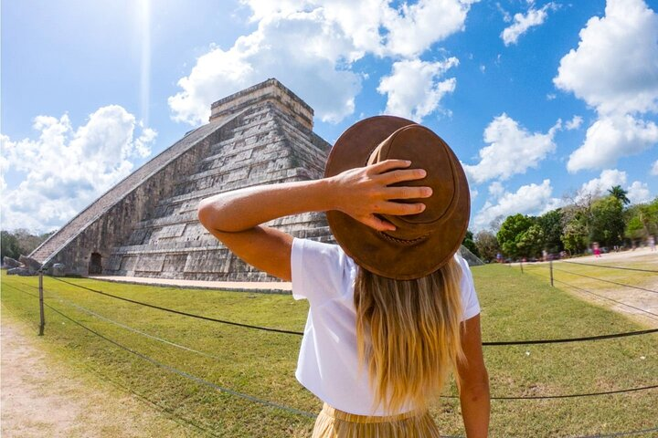
[[[434,130],[473,231],[658,195],[658,0],[22,0],[0,20],[3,230],[66,224],[267,78],[332,143],[377,114]]]

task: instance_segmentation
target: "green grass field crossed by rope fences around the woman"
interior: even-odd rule
[[[570,268],[583,266],[571,266]],[[598,269],[598,268],[595,268]],[[594,306],[545,276],[508,266],[473,268],[483,308],[483,340],[556,339],[658,327],[642,325]],[[584,271],[583,271],[584,272]],[[596,271],[600,276],[601,271]],[[605,274],[608,275],[608,274]],[[624,282],[647,281],[624,272]],[[655,276],[654,276],[655,277]],[[302,331],[305,301],[290,296],[185,290],[67,279],[121,297],[212,318]],[[567,280],[565,280],[567,281]],[[634,282],[634,283],[633,283]],[[299,336],[227,326],[145,308],[45,278],[46,302],[106,337],[168,366],[222,387],[305,412],[321,403],[294,379]],[[34,277],[2,276],[2,308],[16,318],[38,321]],[[595,290],[595,285],[589,285]],[[21,292],[23,291],[23,292]],[[146,338],[90,315],[200,350],[200,355]],[[310,436],[313,420],[222,393],[156,367],[46,309],[43,338],[58,360],[109,380],[190,425],[189,436]],[[614,391],[658,383],[658,335],[589,342],[485,347],[492,396],[536,396]],[[454,385],[446,395],[455,394]],[[440,430],[463,435],[458,401],[432,408]],[[492,401],[492,437],[553,437],[617,433],[658,427],[658,390],[553,400]],[[652,436],[644,433],[634,436]]]

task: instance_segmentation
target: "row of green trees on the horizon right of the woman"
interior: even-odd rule
[[[658,197],[630,205],[621,186],[605,195],[578,193],[568,205],[539,216],[513,214],[499,218],[492,229],[473,235],[463,245],[484,261],[577,255],[597,243],[602,248],[635,247],[658,235]]]

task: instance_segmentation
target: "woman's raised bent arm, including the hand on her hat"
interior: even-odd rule
[[[395,229],[377,214],[418,214],[423,203],[390,200],[426,198],[429,187],[388,187],[425,177],[410,162],[387,160],[331,178],[249,187],[201,201],[198,217],[207,230],[242,260],[290,281],[292,236],[260,226],[281,216],[340,210],[377,230]]]

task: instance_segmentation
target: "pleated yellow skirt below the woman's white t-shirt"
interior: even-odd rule
[[[427,411],[370,417],[339,411],[326,403],[313,428],[313,438],[439,437],[439,429]]]

